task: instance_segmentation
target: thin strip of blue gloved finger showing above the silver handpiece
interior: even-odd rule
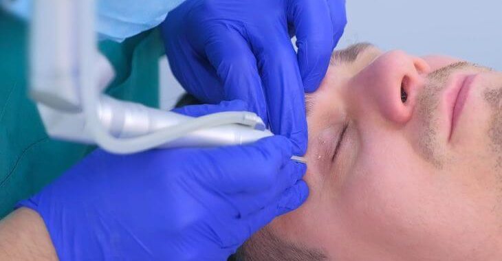
[[[243,100],[224,100],[219,104],[188,105],[173,109],[172,111],[191,117],[199,117],[210,113],[221,113],[223,111],[248,111],[248,104]]]

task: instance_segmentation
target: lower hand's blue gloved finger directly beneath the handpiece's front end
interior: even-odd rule
[[[197,164],[186,166],[187,173],[193,173],[191,178],[221,193],[253,193],[274,185],[281,167],[291,160],[292,144],[276,135],[250,145],[210,148],[199,153],[204,155],[197,158]]]

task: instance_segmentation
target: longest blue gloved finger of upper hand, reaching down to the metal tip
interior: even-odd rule
[[[304,155],[307,150],[305,93],[285,27],[274,32],[272,38],[252,38],[252,45],[257,50],[272,132],[289,137],[294,144],[294,155]],[[254,32],[257,34],[259,32]]]

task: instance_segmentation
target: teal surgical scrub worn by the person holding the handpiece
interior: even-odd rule
[[[27,96],[28,29],[24,21],[0,9],[0,218],[94,149],[56,141],[45,133]],[[99,47],[116,71],[107,93],[157,107],[158,60],[164,54],[158,30]]]

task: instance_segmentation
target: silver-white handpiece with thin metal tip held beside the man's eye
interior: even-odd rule
[[[115,100],[102,96],[98,107],[99,120],[102,126],[117,138],[130,138],[154,133],[163,128],[177,126],[193,117],[153,109],[142,104]],[[95,144],[96,141],[85,124],[83,113],[61,113],[43,104],[38,104],[41,117],[51,137],[67,141],[77,141],[85,144]],[[179,147],[212,147],[250,144],[274,134],[265,129],[261,119],[257,126],[242,124],[226,124],[210,128],[201,128],[186,133],[182,137],[168,141],[159,148]],[[293,156],[292,160],[306,163],[305,158]]]

